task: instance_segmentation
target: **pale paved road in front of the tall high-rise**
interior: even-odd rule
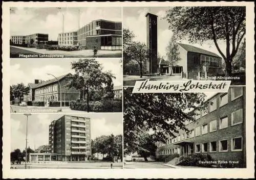
[[[122,162],[112,163],[112,169],[122,169]],[[25,169],[25,164],[11,164],[13,169]],[[27,164],[27,169],[111,169],[110,162]]]

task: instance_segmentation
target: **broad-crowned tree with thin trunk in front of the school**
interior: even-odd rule
[[[112,79],[115,76],[110,72],[103,72],[102,65],[95,59],[79,59],[77,62],[72,62],[72,69],[75,74],[71,77],[68,87],[76,89],[84,89],[87,93],[87,112],[89,112],[89,92],[91,89],[99,89],[103,86],[108,87],[108,90],[113,90]]]

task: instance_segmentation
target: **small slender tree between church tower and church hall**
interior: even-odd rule
[[[169,40],[169,43],[166,47],[166,56],[167,56],[167,61],[169,61],[169,64],[170,64],[170,75],[172,75],[173,66],[176,64],[176,62],[181,60],[179,47],[177,44],[177,38],[175,35],[172,36],[172,38]]]

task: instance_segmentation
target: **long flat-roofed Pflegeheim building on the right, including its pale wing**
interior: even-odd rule
[[[119,50],[122,48],[122,23],[98,19],[77,32],[58,35],[59,45],[81,45],[87,49]],[[66,40],[65,40],[66,39]]]

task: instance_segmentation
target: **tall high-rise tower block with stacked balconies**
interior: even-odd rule
[[[64,115],[49,125],[49,150],[57,161],[87,161],[91,152],[90,118]]]

